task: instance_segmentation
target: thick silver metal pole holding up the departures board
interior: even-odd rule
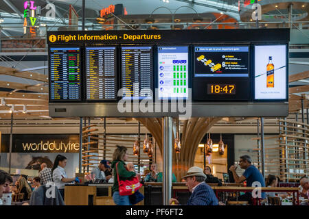
[[[169,205],[172,190],[172,125],[171,116],[163,118],[163,205]]]

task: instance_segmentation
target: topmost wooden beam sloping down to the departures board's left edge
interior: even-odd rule
[[[10,76],[14,76],[14,77],[32,79],[32,80],[35,80],[35,81],[48,82],[48,76],[47,75],[43,75],[43,74],[40,74],[40,73],[33,73],[33,72],[30,72],[30,71],[19,72],[19,70],[15,69],[15,68],[8,68],[8,67],[5,67],[5,66],[1,66],[0,75],[10,75]]]

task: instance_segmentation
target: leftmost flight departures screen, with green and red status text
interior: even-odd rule
[[[51,101],[81,100],[79,47],[49,48]]]

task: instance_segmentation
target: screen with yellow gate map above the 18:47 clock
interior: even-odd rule
[[[249,46],[194,47],[194,77],[248,77]]]

